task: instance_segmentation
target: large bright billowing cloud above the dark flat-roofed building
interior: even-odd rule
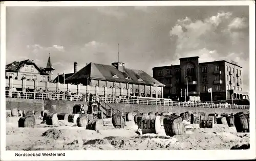
[[[246,30],[248,22],[233,17],[230,12],[221,12],[203,20],[191,20],[189,17],[178,19],[170,30],[170,36],[177,36],[176,64],[179,58],[199,56],[200,62],[218,60],[236,61],[243,67],[245,90],[249,85],[249,53]]]

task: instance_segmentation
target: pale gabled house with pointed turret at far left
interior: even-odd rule
[[[6,65],[6,77],[15,79],[30,79],[42,82],[51,82],[53,79],[51,58],[49,56],[46,68],[38,67],[33,60],[14,61]]]

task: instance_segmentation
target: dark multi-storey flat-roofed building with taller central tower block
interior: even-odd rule
[[[235,62],[199,63],[199,57],[180,58],[180,65],[153,68],[153,77],[165,85],[164,98],[200,96],[201,101],[249,98],[243,92],[242,67]],[[188,91],[188,93],[187,93]],[[188,99],[188,97],[186,97]]]

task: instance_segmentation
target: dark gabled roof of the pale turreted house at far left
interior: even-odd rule
[[[24,67],[24,65],[27,64],[27,65],[34,65],[35,68],[40,72],[41,75],[48,75],[48,73],[45,72],[45,70],[43,70],[42,68],[39,68],[35,63],[34,61],[32,60],[24,60],[24,61],[14,61],[10,64],[7,64],[5,69],[8,70],[8,71],[19,71],[20,68]]]

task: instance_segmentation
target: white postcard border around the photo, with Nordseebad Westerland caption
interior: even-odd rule
[[[1,118],[5,118],[5,13],[8,6],[249,6],[250,12],[250,98],[255,98],[255,4],[253,1],[127,1],[127,2],[1,2]],[[250,118],[255,118],[255,101],[250,102]],[[253,122],[252,122],[253,121]],[[253,159],[255,120],[250,123],[250,150],[91,150],[91,151],[6,151],[5,119],[1,119],[1,160],[181,160]],[[15,157],[15,153],[66,153],[65,157]]]

